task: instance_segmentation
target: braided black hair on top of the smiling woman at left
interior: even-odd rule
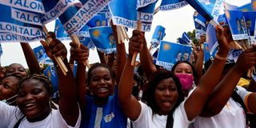
[[[22,83],[25,82],[26,80],[29,80],[29,79],[36,79],[40,82],[43,83],[43,85],[45,86],[47,92],[49,95],[51,95],[53,93],[53,87],[51,86],[51,82],[50,82],[50,79],[47,78],[45,75],[43,74],[32,74],[30,76],[27,76],[25,78],[22,78],[22,80],[19,82],[18,86],[19,86],[19,89],[21,88],[22,86]]]

